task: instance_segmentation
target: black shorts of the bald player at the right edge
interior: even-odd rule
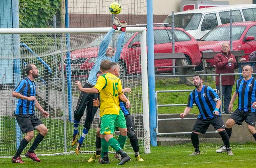
[[[256,121],[256,113],[254,113],[254,112],[245,113],[245,112],[242,112],[242,111],[236,109],[230,115],[229,118],[235,120],[237,125],[242,125],[242,122],[245,121],[246,124],[254,127],[255,121]]]

